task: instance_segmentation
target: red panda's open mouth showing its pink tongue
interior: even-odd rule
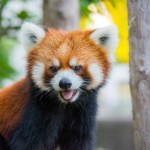
[[[65,101],[70,102],[72,98],[76,95],[76,93],[77,90],[66,90],[60,92],[60,95]]]

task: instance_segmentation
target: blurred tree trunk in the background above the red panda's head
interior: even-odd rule
[[[79,28],[79,0],[43,0],[43,24],[56,29]]]

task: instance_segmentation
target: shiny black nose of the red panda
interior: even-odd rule
[[[65,89],[65,90],[69,89],[71,85],[72,85],[71,81],[67,78],[63,78],[59,82],[60,88]]]

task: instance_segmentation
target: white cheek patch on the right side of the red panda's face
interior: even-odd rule
[[[93,63],[88,67],[88,70],[93,77],[93,82],[89,85],[89,89],[96,88],[103,81],[102,69],[98,64]]]

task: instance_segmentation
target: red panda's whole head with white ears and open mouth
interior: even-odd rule
[[[41,91],[55,91],[62,102],[74,102],[84,90],[105,82],[118,44],[114,25],[65,32],[24,23],[22,38],[28,77]]]

